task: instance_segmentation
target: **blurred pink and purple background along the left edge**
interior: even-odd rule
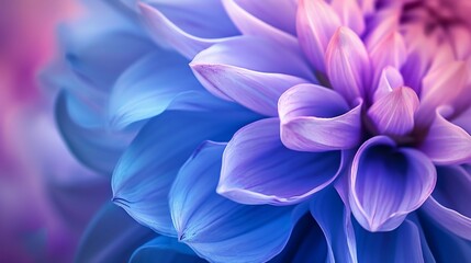
[[[72,262],[108,179],[68,151],[54,121],[57,91],[37,81],[56,56],[72,0],[0,0],[0,262]]]

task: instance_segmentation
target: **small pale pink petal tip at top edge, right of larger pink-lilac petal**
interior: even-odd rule
[[[343,25],[352,30],[357,35],[363,34],[366,23],[357,0],[333,0],[330,7],[338,14]]]

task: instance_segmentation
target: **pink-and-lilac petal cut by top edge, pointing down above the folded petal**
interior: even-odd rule
[[[324,54],[340,19],[323,0],[300,0],[296,15],[298,39],[314,68],[325,72]]]

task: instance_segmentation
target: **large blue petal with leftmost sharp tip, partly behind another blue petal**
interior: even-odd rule
[[[178,170],[201,141],[227,140],[254,118],[240,108],[160,114],[143,127],[120,159],[112,178],[113,201],[141,224],[176,236],[167,196]]]

